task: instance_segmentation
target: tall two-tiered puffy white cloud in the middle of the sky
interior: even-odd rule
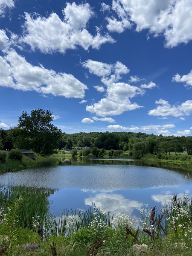
[[[142,108],[137,103],[131,103],[130,99],[138,95],[143,95],[145,91],[136,86],[118,82],[121,79],[121,75],[125,75],[130,71],[124,64],[119,61],[115,64],[106,64],[89,59],[82,63],[82,65],[88,68],[90,73],[101,77],[102,83],[107,87],[106,97],[93,105],[87,106],[87,111],[105,117]],[[98,89],[98,87],[96,88]]]

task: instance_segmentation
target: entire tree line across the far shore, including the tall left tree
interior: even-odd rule
[[[107,151],[121,150],[134,158],[145,154],[166,154],[186,151],[192,155],[192,137],[163,136],[134,132],[80,132],[66,134],[52,125],[50,111],[40,108],[28,115],[23,112],[18,125],[0,129],[0,149],[22,148],[41,154],[52,154],[56,149],[89,147]],[[95,149],[95,152],[96,152]]]

